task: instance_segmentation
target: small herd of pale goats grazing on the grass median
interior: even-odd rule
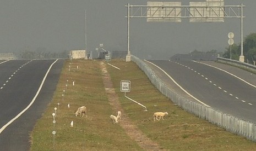
[[[83,114],[83,115],[82,115]],[[85,106],[82,106],[82,107],[79,107],[77,109],[77,112],[75,112],[75,116],[77,117],[78,115],[81,116],[81,117],[84,117],[84,114],[86,114],[86,118],[87,118],[87,111],[86,111],[86,107]],[[118,120],[121,119],[121,111],[118,111],[117,112],[117,116],[115,115],[110,115],[110,119],[112,121],[113,124],[116,124],[118,123]],[[162,118],[162,120],[164,120],[164,116],[165,115],[168,115],[167,112],[156,112],[154,113],[154,121],[155,119],[156,120],[160,120]]]

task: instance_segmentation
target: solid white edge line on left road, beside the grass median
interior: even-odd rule
[[[42,83],[41,83],[41,85],[39,86],[39,89],[37,90],[36,95],[34,96],[34,98],[32,99],[32,101],[29,103],[29,105],[28,105],[25,109],[23,109],[23,111],[21,111],[18,115],[16,115],[16,117],[14,117],[14,118],[13,118],[12,120],[10,120],[6,125],[4,125],[4,126],[0,129],[0,134],[3,132],[4,129],[6,129],[7,126],[9,126],[10,124],[12,124],[14,120],[18,119],[23,113],[25,113],[25,112],[32,106],[32,104],[33,104],[33,103],[35,102],[35,100],[36,100],[36,97],[39,95],[39,92],[40,92],[41,89],[42,89],[43,83],[45,83],[45,79],[46,79],[48,73],[50,72],[52,66],[53,66],[57,61],[58,61],[58,59],[55,60],[55,62],[53,62],[53,63],[51,64],[51,66],[48,68],[48,71],[46,72],[45,77],[43,77]]]

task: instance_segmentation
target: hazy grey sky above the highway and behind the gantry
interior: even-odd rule
[[[0,52],[95,51],[99,44],[106,50],[127,51],[127,3],[146,5],[144,0],[0,0]],[[159,1],[162,2],[162,1]],[[169,2],[179,2],[169,1]],[[182,5],[205,0],[181,0]],[[225,5],[246,5],[244,37],[256,32],[256,1],[225,0]],[[168,59],[176,53],[195,49],[225,51],[227,33],[235,33],[240,43],[240,19],[219,23],[146,22],[130,19],[130,51],[141,59]]]

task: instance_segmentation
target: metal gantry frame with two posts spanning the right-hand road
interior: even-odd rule
[[[241,19],[241,55],[239,56],[239,61],[244,62],[243,56],[243,8],[245,5],[207,5],[207,6],[190,6],[190,5],[180,5],[180,6],[170,6],[170,5],[130,5],[129,3],[125,5],[127,7],[127,56],[126,61],[130,61],[130,19],[131,18],[143,18],[143,19],[225,19],[225,18],[237,18]],[[221,11],[220,12],[216,12]],[[161,12],[166,12],[161,14],[161,16],[154,16],[154,13],[149,16],[148,11],[154,9],[154,13],[160,14]],[[168,11],[166,11],[168,9]],[[205,16],[205,14],[200,13],[202,9],[211,10],[214,16]],[[177,11],[178,10],[178,11]],[[193,10],[193,11],[192,11]],[[194,11],[197,11],[197,15],[194,15]],[[218,15],[223,14],[223,16]],[[173,21],[172,21],[173,22]],[[175,21],[174,21],[175,22]],[[204,22],[204,21],[202,21]]]

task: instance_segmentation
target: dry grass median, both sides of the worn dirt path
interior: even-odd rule
[[[100,62],[67,60],[57,89],[42,118],[31,132],[30,150],[142,150],[109,116],[116,114],[108,102],[102,82]],[[106,62],[105,62],[106,63]],[[183,111],[151,85],[133,62],[111,60],[106,65],[124,113],[151,140],[166,150],[256,150],[256,143]],[[70,65],[70,71],[68,71]],[[67,82],[68,80],[68,82]],[[130,80],[127,96],[147,107],[148,111],[124,97],[120,81]],[[72,83],[75,82],[73,86]],[[66,84],[68,84],[66,89]],[[64,93],[64,100],[62,94]],[[57,103],[60,103],[59,106]],[[70,104],[70,108],[67,104]],[[88,118],[75,117],[80,106],[88,108]],[[57,107],[55,127],[52,113]],[[154,121],[154,112],[168,112],[165,120]],[[74,121],[74,127],[70,122]],[[122,120],[120,121],[122,122]],[[53,146],[52,131],[56,131]]]

